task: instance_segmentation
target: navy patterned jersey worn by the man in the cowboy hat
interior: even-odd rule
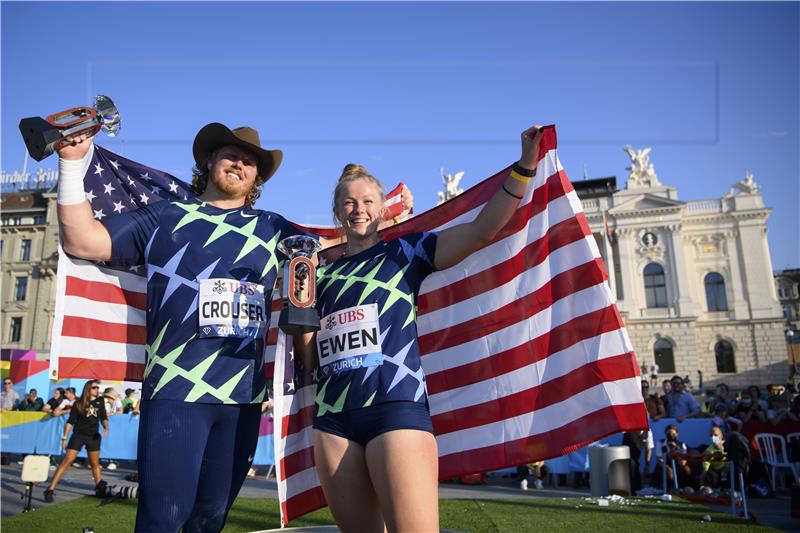
[[[277,243],[303,232],[267,211],[158,202],[103,221],[112,263],[147,268],[146,399],[261,402]]]

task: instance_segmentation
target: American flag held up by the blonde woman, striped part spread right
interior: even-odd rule
[[[389,240],[475,218],[510,168],[383,232]],[[494,238],[422,284],[422,366],[439,478],[564,455],[647,428],[633,347],[581,203],[545,129],[533,184]],[[284,524],[325,505],[314,468],[315,383],[279,335],[275,449]]]

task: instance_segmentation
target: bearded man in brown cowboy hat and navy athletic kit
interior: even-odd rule
[[[279,240],[301,234],[252,209],[281,163],[249,127],[203,127],[194,140],[199,196],[95,220],[83,191],[93,150],[59,151],[64,250],[147,265],[147,363],[142,387],[137,531],[219,531],[252,462],[265,399]]]

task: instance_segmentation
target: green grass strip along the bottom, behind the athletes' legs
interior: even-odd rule
[[[441,500],[440,523],[443,529],[509,533],[775,531],[683,500],[664,503],[637,498],[632,501],[635,505],[612,503],[609,507],[598,507],[582,498]],[[136,502],[121,500],[103,507],[99,507],[99,503],[96,498],[86,497],[45,506],[33,513],[3,519],[3,531],[68,532],[81,531],[87,526],[97,533],[133,531]],[[711,515],[711,522],[703,521],[707,514]],[[290,526],[324,524],[333,524],[327,509],[311,513]],[[239,498],[228,515],[224,531],[257,531],[279,525],[276,500]]]

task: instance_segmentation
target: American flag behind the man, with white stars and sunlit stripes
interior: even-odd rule
[[[100,221],[153,202],[194,196],[178,178],[97,145],[83,184]],[[59,247],[50,378],[141,381],[146,284],[143,266],[112,268],[71,257]]]

